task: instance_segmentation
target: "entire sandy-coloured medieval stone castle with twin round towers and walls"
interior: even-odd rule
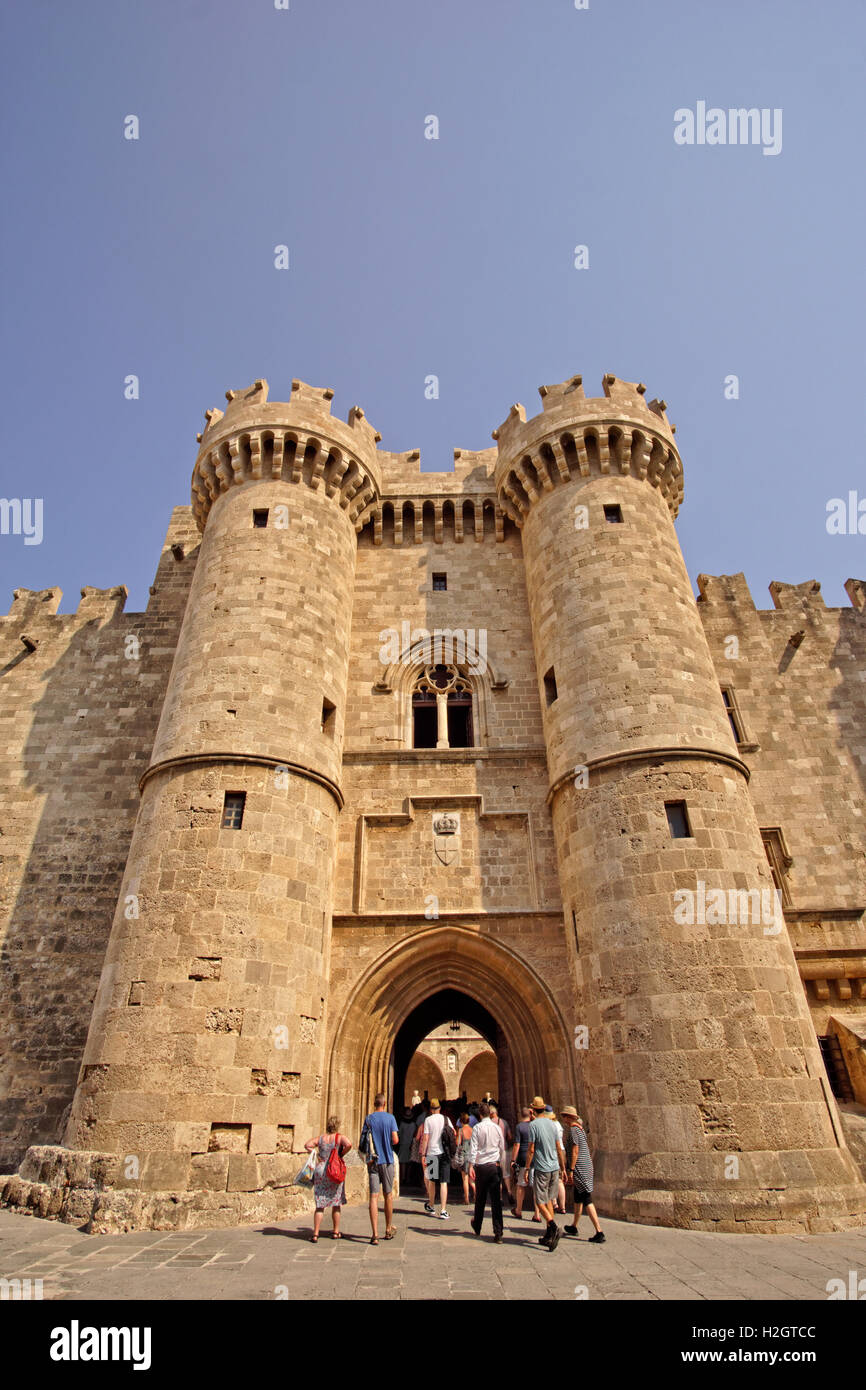
[[[642,385],[439,474],[331,396],[207,411],[145,613],[0,620],[1,1200],[279,1218],[453,1019],[607,1215],[862,1220],[865,584],[695,602]]]

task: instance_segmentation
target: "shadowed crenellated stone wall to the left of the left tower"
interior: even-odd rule
[[[0,617],[4,1172],[63,1134],[199,541],[175,507],[145,613],[19,589]]]

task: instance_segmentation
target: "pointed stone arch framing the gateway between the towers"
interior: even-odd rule
[[[377,1091],[395,1102],[398,1036],[416,1011],[418,1019],[425,1017],[424,1001],[449,991],[474,1005],[459,1011],[468,1023],[487,1037],[487,1020],[496,1029],[491,1042],[512,1091],[500,1097],[503,1105],[525,1104],[537,1093],[556,1106],[575,1102],[574,1049],[545,981],[509,947],[449,924],[421,929],[388,947],[331,1019],[327,1112],[359,1125]],[[484,1027],[473,1015],[487,1016]]]

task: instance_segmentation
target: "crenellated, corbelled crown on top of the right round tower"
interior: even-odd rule
[[[493,430],[496,488],[503,510],[523,525],[532,502],[573,477],[631,474],[657,488],[676,516],[683,463],[664,400],[644,399],[642,382],[607,374],[603,396],[588,398],[582,377],[539,386],[541,414],[521,404]]]

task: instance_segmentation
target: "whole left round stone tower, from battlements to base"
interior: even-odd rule
[[[203,539],[67,1129],[125,1156],[113,1186],[149,1225],[178,1202],[204,1220],[291,1205],[291,1154],[322,1122],[354,520],[379,493],[378,435],[297,381],[289,403],[264,382],[227,395],[200,436]],[[156,1193],[175,1194],[165,1213]]]

